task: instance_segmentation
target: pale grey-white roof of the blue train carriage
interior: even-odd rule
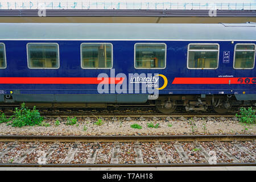
[[[256,40],[256,23],[0,23],[0,40]]]

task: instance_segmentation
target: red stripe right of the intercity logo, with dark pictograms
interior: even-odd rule
[[[255,77],[174,78],[172,84],[256,84]]]

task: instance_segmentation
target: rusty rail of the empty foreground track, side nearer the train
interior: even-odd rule
[[[245,141],[255,140],[256,135],[1,135],[0,142],[207,142],[207,141]]]

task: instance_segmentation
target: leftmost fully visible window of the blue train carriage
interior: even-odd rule
[[[28,43],[28,68],[58,69],[59,45],[57,43]]]

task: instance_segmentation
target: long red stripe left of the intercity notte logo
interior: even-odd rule
[[[0,77],[0,84],[122,84],[123,80],[122,77]]]

